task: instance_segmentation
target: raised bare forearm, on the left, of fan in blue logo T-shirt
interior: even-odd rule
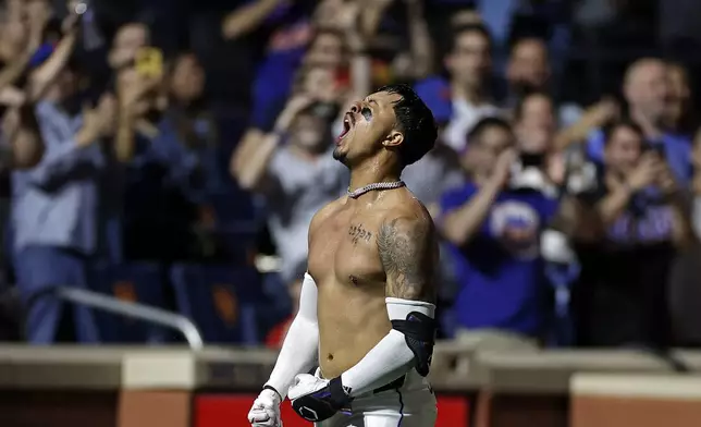
[[[457,246],[469,242],[482,227],[497,195],[499,186],[487,183],[471,200],[448,213],[443,221],[442,232],[445,239]]]

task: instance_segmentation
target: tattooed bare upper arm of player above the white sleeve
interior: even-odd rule
[[[386,274],[386,295],[433,301],[434,235],[430,223],[396,218],[378,233],[380,260]]]

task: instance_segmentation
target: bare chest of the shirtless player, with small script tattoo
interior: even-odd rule
[[[340,213],[329,218],[309,242],[311,276],[321,284],[330,280],[353,286],[384,283],[378,230],[379,224],[369,216]]]

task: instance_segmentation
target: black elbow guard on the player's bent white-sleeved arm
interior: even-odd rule
[[[411,312],[406,316],[406,320],[392,320],[392,328],[404,333],[406,345],[416,357],[416,371],[421,377],[429,375],[435,343],[435,319],[422,313]]]

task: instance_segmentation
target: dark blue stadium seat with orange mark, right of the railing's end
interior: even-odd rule
[[[195,321],[206,343],[258,344],[258,271],[248,267],[177,264],[170,280],[181,314]]]

